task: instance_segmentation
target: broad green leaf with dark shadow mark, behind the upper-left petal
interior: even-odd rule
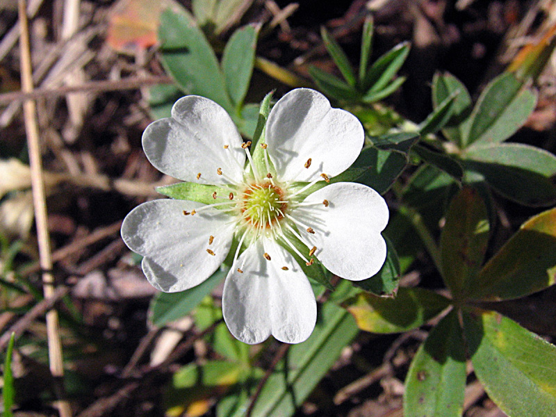
[[[165,10],[158,40],[162,63],[184,92],[211,99],[233,113],[218,60],[193,19]]]

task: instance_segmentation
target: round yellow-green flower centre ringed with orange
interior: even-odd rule
[[[252,184],[243,192],[241,213],[256,228],[270,228],[284,218],[288,204],[284,191],[271,184]]]

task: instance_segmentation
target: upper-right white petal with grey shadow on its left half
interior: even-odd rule
[[[331,108],[325,96],[308,88],[284,95],[270,111],[265,142],[277,173],[286,181],[335,177],[359,156],[365,133],[357,117]],[[311,165],[304,167],[311,158]]]

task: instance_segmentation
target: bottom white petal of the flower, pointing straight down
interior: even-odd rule
[[[282,270],[284,266],[288,270]],[[315,327],[316,301],[293,257],[274,241],[259,240],[229,272],[222,312],[231,334],[245,343],[261,343],[270,334],[285,343],[300,343]]]

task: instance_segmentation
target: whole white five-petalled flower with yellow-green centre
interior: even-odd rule
[[[315,183],[350,167],[363,140],[354,115],[331,108],[314,90],[293,90],[268,116],[260,151],[265,172],[259,172],[261,164],[257,169],[223,108],[204,97],[183,97],[171,118],[147,127],[142,145],[165,174],[218,186],[215,204],[181,199],[141,204],[125,218],[122,237],[145,256],[142,269],[149,282],[166,292],[207,279],[232,242],[239,242],[222,297],[231,333],[251,344],[270,334],[300,343],[315,326],[316,301],[292,254],[309,268],[320,268],[313,265],[316,258],[354,281],[375,275],[386,259],[380,232],[389,211],[375,190],[338,182],[306,196]],[[293,244],[296,239],[304,250]]]

